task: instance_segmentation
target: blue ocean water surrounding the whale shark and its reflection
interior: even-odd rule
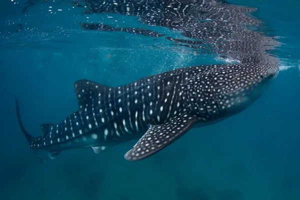
[[[89,31],[81,22],[142,27],[135,16],[82,14],[64,0],[2,0],[0,11],[1,199],[300,199],[300,3],[228,0],[257,7],[265,34],[282,42],[278,77],[245,111],[194,128],[159,153],[138,162],[123,158],[136,141],[100,154],[63,151],[36,158],[17,123],[34,136],[78,109],[73,82],[91,79],[117,86],[159,72],[230,60],[170,41],[126,32]],[[20,25],[21,24],[21,25]],[[151,27],[177,35],[165,27]]]

